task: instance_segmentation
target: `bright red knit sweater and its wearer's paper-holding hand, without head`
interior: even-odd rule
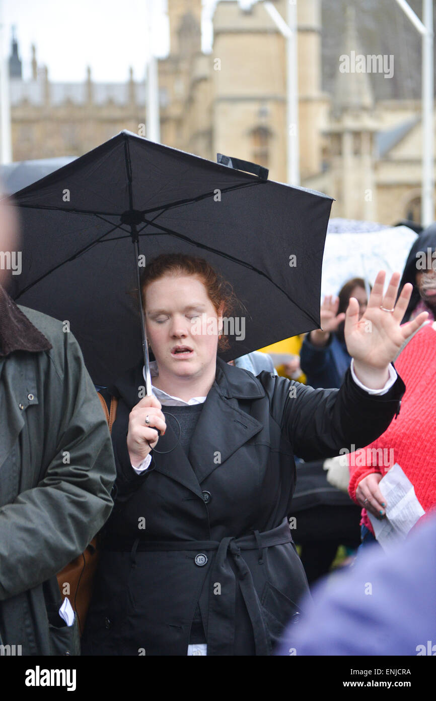
[[[384,518],[379,482],[395,463],[414,485],[423,509],[436,506],[436,395],[431,391],[436,386],[436,322],[416,332],[395,367],[406,385],[400,414],[376,441],[348,456],[349,494],[363,507],[363,543],[374,540],[367,512]]]

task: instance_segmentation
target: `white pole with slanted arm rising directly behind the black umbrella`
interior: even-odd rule
[[[286,22],[274,5],[265,2],[265,10],[286,39],[286,145],[287,179],[300,185],[300,129],[298,121],[297,3],[286,1]]]

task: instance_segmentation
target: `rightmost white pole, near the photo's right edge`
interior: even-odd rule
[[[433,67],[433,0],[423,0],[423,186],[421,196],[421,223],[424,227],[435,221],[435,126],[434,67]]]

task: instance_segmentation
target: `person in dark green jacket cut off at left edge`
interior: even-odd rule
[[[115,464],[73,334],[15,304],[2,286],[9,275],[3,262],[21,255],[15,224],[0,199],[1,654],[77,655],[77,615],[65,601],[73,622],[59,615],[56,573],[108,518]]]

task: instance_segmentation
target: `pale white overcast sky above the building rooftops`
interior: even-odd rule
[[[203,0],[203,50],[211,50],[211,15],[218,0]],[[167,0],[151,0],[155,55],[169,50]],[[241,4],[252,4],[244,0]],[[30,77],[31,44],[52,81],[125,81],[129,65],[143,79],[148,55],[148,0],[0,0],[9,53],[15,25],[23,78]]]

